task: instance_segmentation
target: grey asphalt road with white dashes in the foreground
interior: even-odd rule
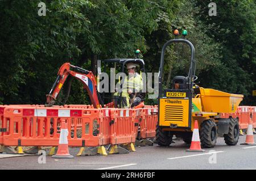
[[[254,135],[254,140],[256,135]],[[245,136],[240,136],[236,146],[227,146],[224,138],[218,137],[217,144],[203,153],[187,152],[189,145],[176,141],[169,147],[135,147],[129,154],[81,156],[73,159],[46,157],[46,163],[38,163],[39,155],[1,158],[0,169],[125,169],[125,170],[171,170],[171,169],[256,169],[256,146],[240,145]],[[209,153],[213,151],[214,153]],[[70,149],[76,155],[77,149]]]

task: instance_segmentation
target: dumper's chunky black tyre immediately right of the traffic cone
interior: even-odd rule
[[[217,126],[211,120],[205,120],[201,124],[200,140],[203,148],[213,148],[217,140]]]

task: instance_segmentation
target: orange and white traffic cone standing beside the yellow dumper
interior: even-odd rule
[[[201,149],[201,145],[200,144],[201,143],[200,143],[200,137],[199,137],[198,123],[197,123],[197,120],[195,120],[195,125],[194,125],[194,129],[193,129],[191,146],[186,151],[204,152],[205,150]]]

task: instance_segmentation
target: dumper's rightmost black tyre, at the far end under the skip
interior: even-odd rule
[[[230,118],[229,133],[224,134],[224,140],[227,145],[236,145],[239,140],[239,123],[237,119]]]

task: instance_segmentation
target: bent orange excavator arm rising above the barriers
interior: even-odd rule
[[[73,70],[70,70],[71,68]],[[97,82],[94,78],[92,71],[79,68],[69,63],[65,63],[60,67],[56,81],[54,82],[49,94],[46,95],[46,107],[53,106],[57,95],[59,95],[59,92],[69,75],[75,77],[76,79],[79,79],[79,81],[82,82],[82,85],[84,86],[84,89],[88,92],[94,108],[100,108],[100,105],[104,107],[104,103],[102,102],[101,96],[98,93]]]

